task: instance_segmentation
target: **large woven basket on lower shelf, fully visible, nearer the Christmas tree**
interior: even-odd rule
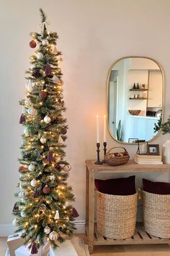
[[[107,195],[97,191],[97,230],[111,239],[133,236],[138,194]]]

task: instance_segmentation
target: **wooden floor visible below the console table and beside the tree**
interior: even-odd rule
[[[80,236],[86,241],[84,235]],[[6,237],[1,237],[0,256],[5,256],[6,248]],[[170,246],[168,244],[96,246],[93,256],[170,256]]]

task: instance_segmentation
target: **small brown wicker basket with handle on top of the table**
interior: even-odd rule
[[[122,148],[122,147],[115,147]],[[109,163],[110,166],[120,166],[121,164],[127,163],[129,161],[130,155],[125,148],[122,148],[124,152],[120,153],[110,153],[111,150],[115,148],[111,148],[105,155],[105,161]]]

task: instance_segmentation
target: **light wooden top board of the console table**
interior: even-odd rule
[[[169,171],[170,164],[138,164],[134,160],[128,161],[128,163],[122,164],[121,166],[109,166],[107,163],[102,165],[94,164],[95,160],[86,160],[86,167],[89,171],[94,171],[98,173],[125,173],[125,172],[161,172]]]

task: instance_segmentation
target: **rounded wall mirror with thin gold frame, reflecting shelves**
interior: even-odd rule
[[[109,70],[107,124],[115,140],[151,141],[160,132],[164,75],[153,59],[126,57]]]

